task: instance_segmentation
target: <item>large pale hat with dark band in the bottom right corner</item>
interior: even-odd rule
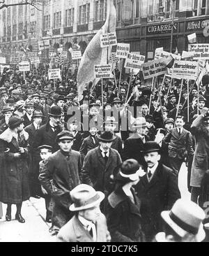
[[[201,207],[192,201],[178,199],[171,211],[162,211],[161,216],[167,225],[182,238],[187,233],[194,234],[199,242],[206,237],[202,225],[206,214]]]

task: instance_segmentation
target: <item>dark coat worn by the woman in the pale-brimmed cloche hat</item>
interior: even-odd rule
[[[132,190],[135,204],[122,188],[112,192],[107,204],[107,227],[111,234],[111,242],[142,242],[141,202]]]

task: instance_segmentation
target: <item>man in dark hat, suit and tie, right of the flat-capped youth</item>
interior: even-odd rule
[[[113,189],[109,182],[110,176],[122,162],[118,151],[111,148],[115,139],[111,131],[103,131],[98,139],[100,145],[90,150],[84,158],[82,182],[107,195]]]

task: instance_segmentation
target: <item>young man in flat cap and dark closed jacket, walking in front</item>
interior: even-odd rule
[[[80,183],[81,155],[72,150],[73,141],[70,131],[61,131],[56,136],[60,150],[47,159],[39,175],[41,185],[52,196],[54,203],[52,225],[55,232],[72,218],[68,210],[72,202],[70,191]]]

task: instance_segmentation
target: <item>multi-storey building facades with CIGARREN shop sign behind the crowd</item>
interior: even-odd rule
[[[131,51],[141,52],[147,59],[153,59],[159,47],[173,52],[187,50],[187,35],[194,32],[198,43],[209,43],[209,0],[114,2],[118,41],[130,43]],[[0,10],[2,52],[9,54],[22,46],[38,51],[42,40],[50,40],[52,51],[68,50],[79,43],[84,52],[104,24],[107,0],[43,0],[38,8],[41,10],[29,5]],[[208,33],[203,33],[207,28]]]

